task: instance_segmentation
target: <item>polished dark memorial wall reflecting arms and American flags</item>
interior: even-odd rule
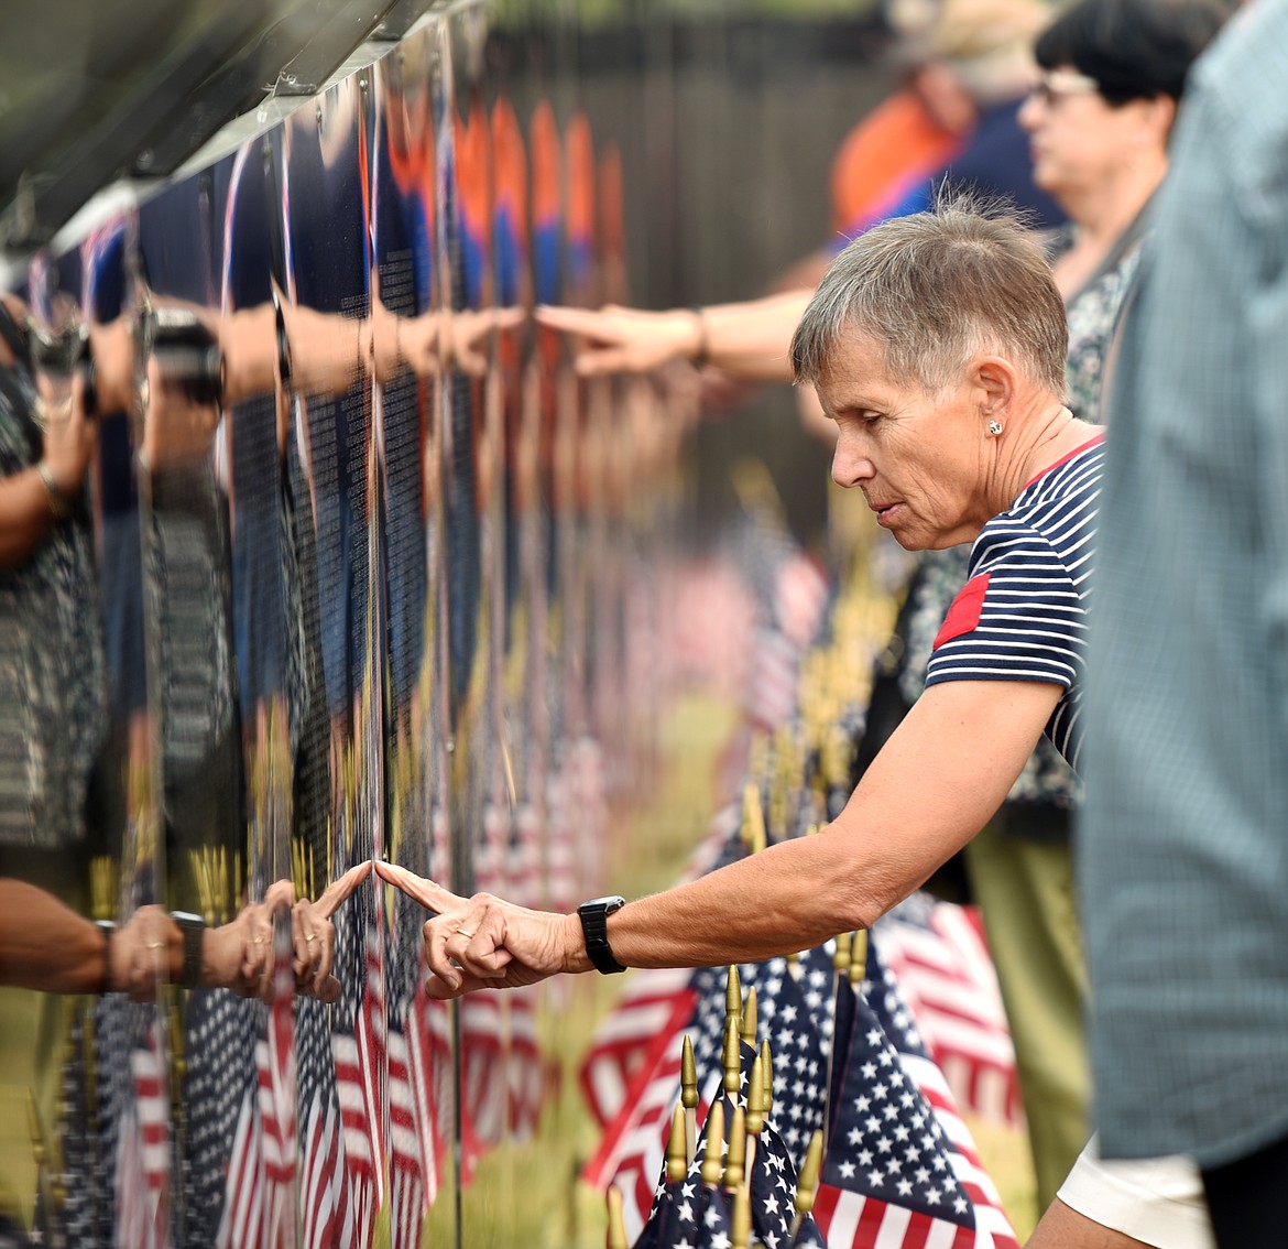
[[[526,320],[626,298],[645,119],[580,107],[556,21],[522,68],[491,34],[430,14],[10,317],[4,473],[80,437],[89,482],[0,571],[5,978],[66,991],[0,990],[15,1244],[469,1244],[453,1195],[542,1114],[558,986],[430,1002],[363,865],[603,892],[688,415]]]

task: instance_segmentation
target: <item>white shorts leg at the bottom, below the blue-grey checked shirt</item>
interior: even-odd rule
[[[1092,1137],[1060,1187],[1060,1200],[1157,1249],[1216,1249],[1203,1178],[1181,1155],[1103,1159]]]

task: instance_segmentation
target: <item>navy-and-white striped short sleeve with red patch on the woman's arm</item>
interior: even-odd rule
[[[985,528],[935,638],[926,684],[1042,681],[1068,690],[1082,674],[1084,632],[1082,595],[1051,544],[1023,527]]]

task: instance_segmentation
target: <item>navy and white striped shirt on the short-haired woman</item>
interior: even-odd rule
[[[1045,681],[1064,686],[1047,736],[1078,767],[1091,565],[1104,434],[1020,491],[980,531],[970,580],[935,638],[926,684]]]

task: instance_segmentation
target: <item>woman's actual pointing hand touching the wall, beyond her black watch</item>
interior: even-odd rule
[[[577,915],[535,911],[491,893],[462,898],[406,867],[376,862],[376,874],[434,911],[425,922],[430,998],[479,989],[518,989],[559,972],[587,971]]]

